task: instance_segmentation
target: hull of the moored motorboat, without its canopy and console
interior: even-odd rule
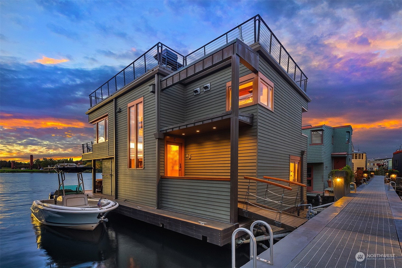
[[[102,199],[107,203],[105,207],[64,207],[46,203],[48,200],[35,200],[31,211],[33,216],[45,225],[53,225],[64,228],[89,230],[95,229],[100,221],[105,219],[107,213],[116,209],[118,204],[114,201]],[[88,199],[96,203],[98,199]]]

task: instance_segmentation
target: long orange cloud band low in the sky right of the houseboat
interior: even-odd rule
[[[372,121],[372,122],[353,122],[346,121],[343,117],[329,117],[329,118],[314,118],[314,119],[306,119],[304,120],[306,123],[303,125],[309,124],[312,126],[319,126],[319,125],[329,125],[331,127],[337,126],[344,126],[344,125],[351,125],[353,130],[356,129],[400,129],[402,128],[402,121],[400,119],[383,119],[379,121]]]

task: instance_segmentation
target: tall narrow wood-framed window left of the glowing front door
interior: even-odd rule
[[[128,168],[144,167],[144,98],[128,105],[129,161]]]

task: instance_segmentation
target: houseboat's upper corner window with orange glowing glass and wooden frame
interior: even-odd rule
[[[232,106],[232,81],[226,83],[226,110]],[[239,107],[261,104],[269,110],[274,106],[274,84],[263,74],[248,74],[239,79]]]

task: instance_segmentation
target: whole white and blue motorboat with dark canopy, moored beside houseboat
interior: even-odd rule
[[[119,204],[106,198],[88,198],[85,194],[82,172],[92,167],[75,164],[59,164],[57,172],[59,187],[50,192],[49,199],[35,200],[31,211],[33,216],[45,225],[92,231],[106,215]],[[78,184],[65,185],[66,173],[76,173]]]

